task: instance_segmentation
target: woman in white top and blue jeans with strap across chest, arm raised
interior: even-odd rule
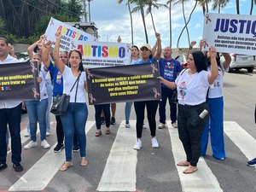
[[[84,90],[86,87],[86,75],[82,64],[82,54],[79,50],[71,50],[68,54],[70,67],[67,67],[59,57],[61,32],[55,32],[55,65],[58,67],[64,79],[63,94],[70,95],[70,102],[67,108],[67,114],[61,115],[61,122],[65,137],[66,162],[61,166],[60,171],[66,171],[72,163],[72,147],[74,131],[77,134],[80,148],[80,166],[86,166],[88,160],[85,158],[86,137],[85,124],[88,116],[88,108],[85,102]],[[76,84],[75,84],[76,82]],[[74,89],[70,91],[75,84]]]

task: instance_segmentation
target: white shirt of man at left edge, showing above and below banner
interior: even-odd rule
[[[0,61],[0,65],[7,64],[7,63],[15,63],[15,62],[20,62],[20,61],[18,61],[15,57],[13,57],[11,55],[7,55],[7,57],[4,61]],[[20,104],[20,102],[21,102],[21,100],[0,101],[0,109],[1,108],[15,108]]]

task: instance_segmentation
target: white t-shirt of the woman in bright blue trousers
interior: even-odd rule
[[[211,70],[211,67],[208,67]],[[215,79],[214,83],[211,84],[209,89],[208,98],[218,98],[223,96],[223,79],[224,79],[224,62],[220,62],[220,67],[218,67],[218,77]]]

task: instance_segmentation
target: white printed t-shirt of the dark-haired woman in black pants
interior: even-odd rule
[[[175,80],[177,100],[182,105],[199,105],[206,102],[207,89],[210,86],[207,71],[189,74],[189,69]]]

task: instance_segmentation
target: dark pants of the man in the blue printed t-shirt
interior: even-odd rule
[[[172,123],[176,122],[177,120],[177,104],[174,102],[171,102],[173,90],[161,87],[161,95],[162,99],[159,103],[159,116],[160,116],[160,123],[166,124],[166,102],[167,99],[169,100],[170,105],[170,119]]]

